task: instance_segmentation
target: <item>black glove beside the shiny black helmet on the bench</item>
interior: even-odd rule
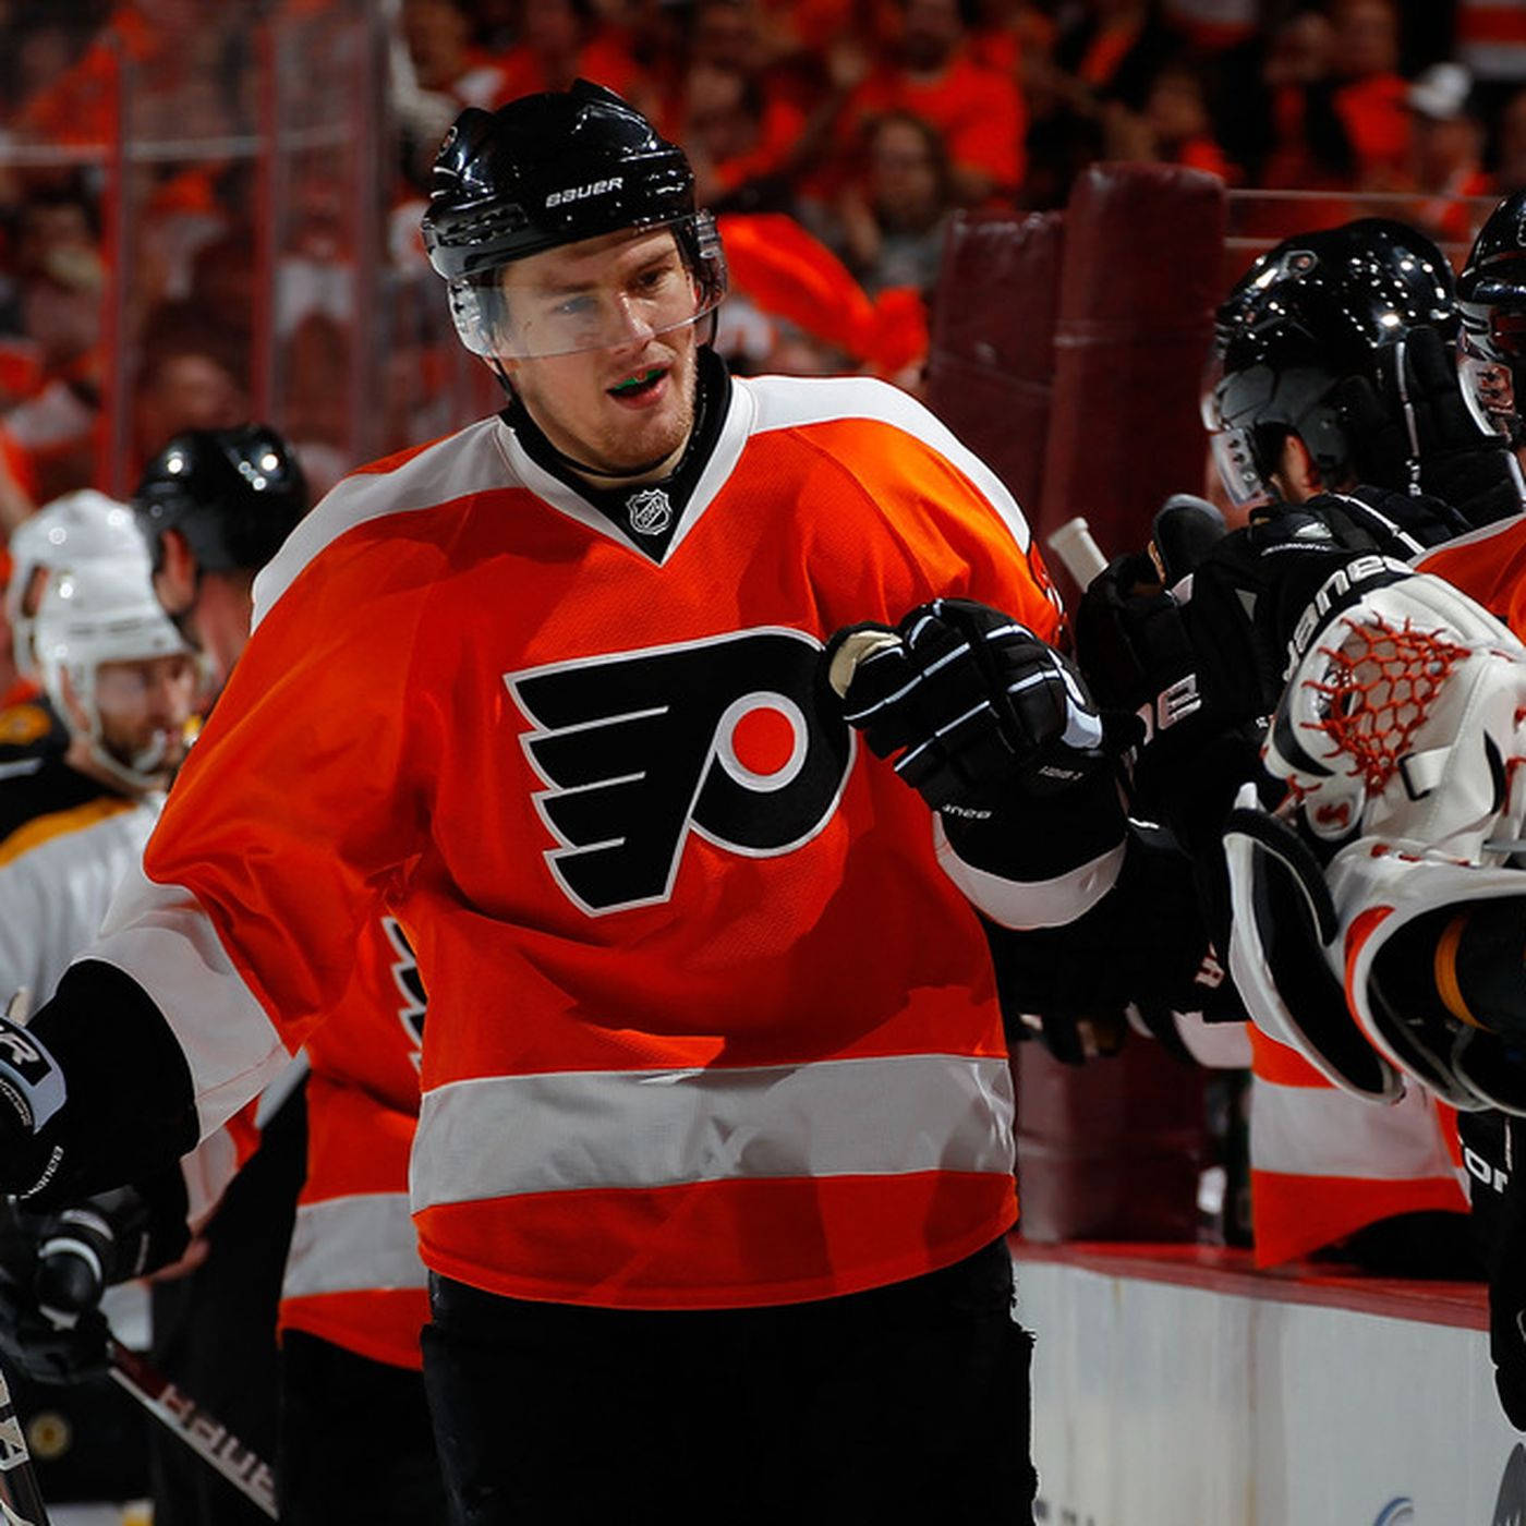
[[[1433,328],[1413,328],[1378,356],[1380,380],[1341,383],[1337,400],[1357,475],[1396,491],[1428,493],[1468,528],[1521,511],[1521,476],[1508,446],[1468,412],[1457,368]]]

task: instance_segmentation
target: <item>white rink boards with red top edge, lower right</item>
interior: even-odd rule
[[[1482,1288],[1196,1247],[1015,1253],[1041,1526],[1526,1521]]]

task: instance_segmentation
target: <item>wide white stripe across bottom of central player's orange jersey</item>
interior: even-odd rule
[[[700,1181],[1004,1175],[1012,1114],[998,1056],[487,1076],[426,1093],[414,1209]]]

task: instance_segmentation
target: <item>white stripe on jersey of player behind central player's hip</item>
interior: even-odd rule
[[[404,1192],[299,1202],[281,1297],[424,1288],[417,1245]]]

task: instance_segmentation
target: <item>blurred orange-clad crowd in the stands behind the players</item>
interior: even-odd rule
[[[693,157],[742,371],[914,386],[949,218],[1099,159],[1262,192],[1262,241],[1457,247],[1526,185],[1511,0],[0,0],[0,525],[183,427],[278,417],[322,488],[459,423],[430,159],[580,75]]]

